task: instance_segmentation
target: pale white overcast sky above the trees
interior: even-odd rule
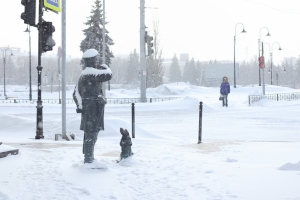
[[[24,10],[20,0],[0,0],[0,46],[10,45],[28,51],[26,24],[20,15]],[[84,3],[83,3],[84,2]],[[67,54],[81,57],[80,42],[84,39],[83,24],[90,15],[94,0],[70,0],[67,3]],[[4,6],[5,5],[5,6]],[[106,26],[114,40],[115,55],[139,51],[140,0],[106,0]],[[284,57],[300,55],[299,0],[145,0],[145,24],[153,31],[153,21],[160,24],[160,46],[163,57],[189,53],[196,60],[233,60],[233,37],[236,33],[236,60],[250,60],[258,55],[258,39],[268,42],[274,64]],[[56,46],[61,46],[61,14],[46,12],[56,32]],[[241,34],[243,23],[247,31]],[[267,27],[271,37],[266,37]],[[236,28],[236,31],[235,31]],[[37,52],[37,29],[31,27],[32,51]],[[278,51],[280,43],[282,51]],[[272,48],[272,44],[273,48]],[[269,47],[265,45],[266,59]],[[2,55],[1,55],[2,56]]]

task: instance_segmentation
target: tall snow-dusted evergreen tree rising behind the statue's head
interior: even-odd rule
[[[102,4],[100,0],[95,0],[95,5],[92,6],[91,16],[87,19],[87,22],[84,23],[88,26],[88,28],[83,30],[83,34],[85,35],[85,39],[81,41],[80,51],[85,52],[87,49],[94,48],[98,50],[101,56],[102,61],[102,47],[103,47],[103,10],[101,9]],[[105,64],[108,66],[111,64],[111,58],[114,57],[112,51],[110,50],[110,46],[114,44],[113,40],[107,35],[109,32],[105,30]]]

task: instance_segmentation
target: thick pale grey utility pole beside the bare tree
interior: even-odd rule
[[[140,0],[140,74],[141,102],[146,102],[145,0]]]

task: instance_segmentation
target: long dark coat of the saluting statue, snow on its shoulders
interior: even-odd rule
[[[104,130],[104,106],[102,82],[112,78],[111,70],[87,67],[79,77],[73,93],[77,112],[81,113],[80,130],[99,132]]]

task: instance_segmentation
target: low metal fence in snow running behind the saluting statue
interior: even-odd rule
[[[131,103],[152,103],[152,102],[160,102],[160,101],[169,101],[174,99],[179,99],[181,97],[162,97],[162,98],[107,98],[108,104],[131,104]],[[30,103],[36,102],[36,99],[32,101],[28,99],[1,99],[0,103]],[[47,104],[59,104],[59,99],[42,99],[43,103]],[[73,99],[66,99],[66,103],[75,103]]]

